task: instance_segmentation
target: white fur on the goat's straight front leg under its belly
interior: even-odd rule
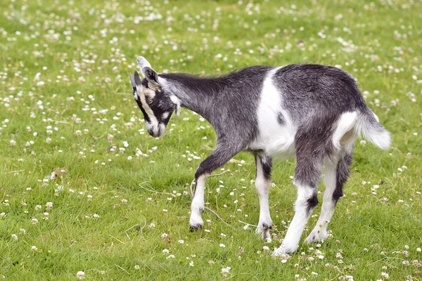
[[[265,159],[265,158],[264,158]],[[260,221],[257,227],[257,233],[262,233],[262,239],[270,237],[269,229],[263,227],[263,223],[271,226],[272,220],[269,214],[269,181],[264,177],[262,170],[262,163],[257,160],[257,177],[255,178],[255,189],[257,190],[258,197],[260,198]]]

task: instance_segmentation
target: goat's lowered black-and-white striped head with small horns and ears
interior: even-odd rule
[[[165,133],[166,126],[177,105],[172,101],[170,95],[163,91],[158,82],[158,74],[151,68],[148,60],[143,57],[138,57],[136,60],[144,78],[141,80],[138,72],[135,72],[134,76],[129,74],[134,99],[143,113],[146,131],[151,136],[159,138]]]

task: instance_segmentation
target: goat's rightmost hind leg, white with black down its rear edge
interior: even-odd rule
[[[352,164],[352,150],[341,152],[338,162],[326,165],[324,183],[324,201],[322,202],[321,215],[316,226],[306,241],[311,244],[316,241],[326,240],[328,237],[327,226],[333,217],[335,205],[338,199],[343,196],[343,185],[349,178],[349,166]]]

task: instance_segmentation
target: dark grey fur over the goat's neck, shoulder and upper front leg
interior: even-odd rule
[[[255,140],[258,133],[255,111],[262,83],[272,68],[248,67],[223,77],[206,78],[180,73],[159,74],[172,84],[173,91],[177,91],[181,106],[207,119],[217,133],[215,151],[199,165],[196,179],[226,164]]]

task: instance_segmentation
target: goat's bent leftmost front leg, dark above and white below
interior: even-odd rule
[[[196,185],[191,205],[191,218],[189,220],[191,230],[202,228],[204,224],[201,214],[204,211],[205,178],[210,176],[212,171],[226,164],[238,152],[239,150],[231,148],[230,145],[219,143],[217,148],[200,163],[195,174]]]

